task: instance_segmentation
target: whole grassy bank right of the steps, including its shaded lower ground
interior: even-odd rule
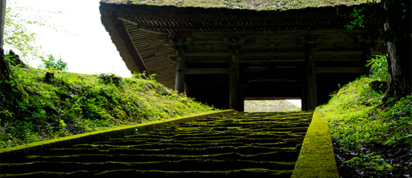
[[[412,96],[387,98],[385,83],[377,82],[388,81],[386,58],[369,62],[370,76],[347,84],[321,106],[329,121],[336,160],[342,162],[340,174],[411,176]]]

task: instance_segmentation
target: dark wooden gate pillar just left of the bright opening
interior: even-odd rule
[[[229,109],[242,111],[243,108],[240,102],[244,102],[240,99],[239,88],[239,56],[238,50],[231,51],[230,60],[230,72],[229,72]]]

